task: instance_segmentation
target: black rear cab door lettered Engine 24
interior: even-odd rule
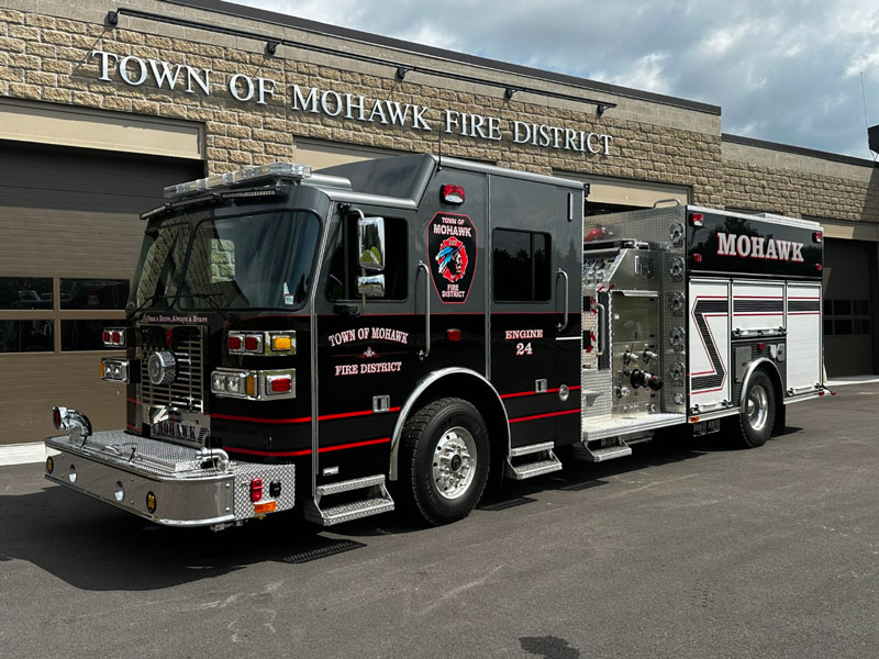
[[[490,189],[491,381],[507,407],[511,444],[555,440],[568,434],[568,424],[572,442],[579,438],[580,383],[579,245],[574,249],[572,236],[581,222],[570,214],[565,188],[494,176]]]

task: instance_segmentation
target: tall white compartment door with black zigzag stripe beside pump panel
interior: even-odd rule
[[[693,279],[689,286],[690,409],[701,412],[730,400],[730,289],[725,280]]]

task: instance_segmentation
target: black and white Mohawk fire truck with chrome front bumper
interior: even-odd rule
[[[56,407],[45,468],[158,524],[397,506],[439,525],[490,477],[622,458],[660,428],[760,446],[828,391],[813,222],[585,217],[582,182],[431,155],[165,197],[103,332],[125,427]]]

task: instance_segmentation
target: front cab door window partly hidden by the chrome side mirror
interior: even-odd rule
[[[377,300],[405,300],[408,249],[407,222],[400,217],[385,217],[385,297]],[[357,294],[357,217],[342,220],[335,235],[330,237],[330,277],[326,299],[332,302],[359,300]]]

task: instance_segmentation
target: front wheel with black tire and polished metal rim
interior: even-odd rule
[[[402,507],[433,526],[463,520],[482,496],[490,459],[488,428],[472,404],[456,398],[429,403],[403,427]]]

